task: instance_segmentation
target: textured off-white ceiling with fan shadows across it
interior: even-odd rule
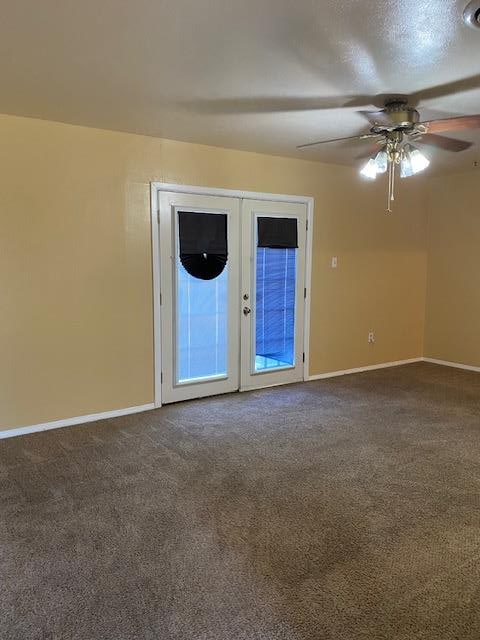
[[[0,112],[352,163],[363,143],[295,147],[366,132],[359,111],[383,94],[419,93],[424,120],[480,112],[465,4],[15,0],[2,6]],[[436,168],[480,160],[480,131],[458,137],[476,144],[429,150]]]

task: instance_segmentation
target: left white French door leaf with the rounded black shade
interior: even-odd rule
[[[159,194],[162,403],[236,391],[240,201]]]

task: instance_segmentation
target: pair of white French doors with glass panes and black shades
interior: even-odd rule
[[[158,204],[162,403],[302,380],[306,206]]]

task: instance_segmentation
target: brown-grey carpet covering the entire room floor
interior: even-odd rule
[[[480,376],[415,364],[0,441],[5,640],[478,640]]]

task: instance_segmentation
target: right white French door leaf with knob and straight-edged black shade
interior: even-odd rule
[[[303,380],[306,207],[243,200],[240,388]]]

